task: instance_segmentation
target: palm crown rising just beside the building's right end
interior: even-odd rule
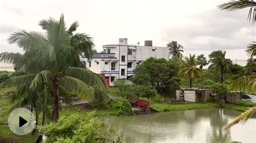
[[[178,44],[177,41],[169,42],[166,46],[169,47],[169,50],[170,50],[169,55],[172,56],[173,58],[183,57],[181,53],[181,52],[184,52],[182,50],[183,46]]]

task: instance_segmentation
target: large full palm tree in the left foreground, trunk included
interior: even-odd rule
[[[52,118],[59,118],[59,92],[75,94],[88,100],[93,96],[93,86],[105,88],[98,74],[83,68],[82,54],[91,58],[95,49],[92,38],[85,33],[73,32],[78,22],[66,28],[64,16],[59,21],[53,18],[39,22],[45,33],[20,30],[12,33],[9,43],[22,47],[24,54],[2,53],[0,60],[24,68],[30,74],[11,78],[11,86],[19,86],[32,79],[30,89],[36,90],[43,84],[51,85],[53,91]]]

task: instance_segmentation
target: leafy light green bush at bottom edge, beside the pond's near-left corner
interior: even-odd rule
[[[40,129],[48,137],[46,142],[120,142],[119,137],[118,140],[110,138],[113,137],[113,130],[104,122],[93,118],[92,113],[60,117],[57,122]]]

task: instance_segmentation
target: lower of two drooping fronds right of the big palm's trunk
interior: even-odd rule
[[[60,80],[60,85],[80,99],[90,100],[94,96],[94,90],[91,86],[73,77],[64,76],[64,78]]]

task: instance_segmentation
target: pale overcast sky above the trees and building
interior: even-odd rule
[[[0,2],[0,52],[22,52],[7,43],[12,31],[42,31],[38,22],[64,13],[68,26],[78,21],[77,32],[93,37],[97,51],[102,45],[128,38],[128,44],[165,46],[172,40],[189,53],[208,56],[225,50],[226,57],[247,59],[247,43],[256,40],[256,25],[247,22],[248,9],[221,11],[226,0],[201,1],[6,1]]]

